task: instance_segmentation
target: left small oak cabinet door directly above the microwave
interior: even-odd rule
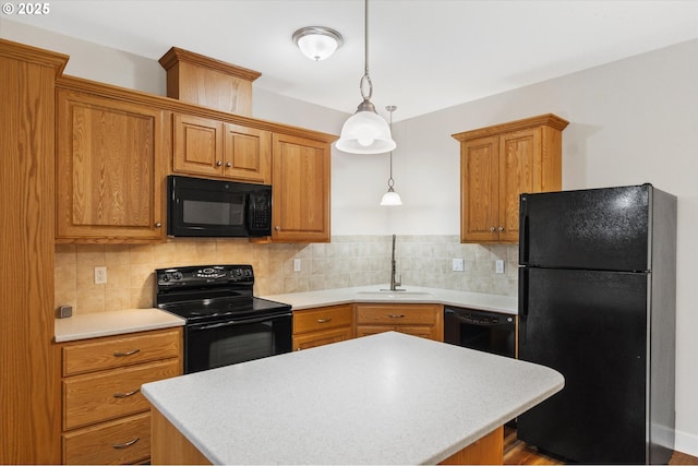
[[[208,118],[172,116],[172,170],[190,175],[222,175],[222,123]]]

